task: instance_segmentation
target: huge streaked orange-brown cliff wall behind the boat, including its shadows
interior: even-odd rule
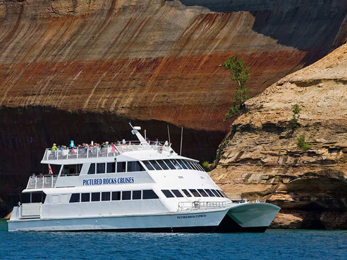
[[[189,128],[183,154],[212,161],[234,90],[223,61],[239,54],[259,94],[344,42],[346,9],[342,0],[0,1],[0,198],[18,200],[18,180],[44,170],[52,142],[125,137],[129,119],[157,120],[151,138],[167,139],[167,123]]]

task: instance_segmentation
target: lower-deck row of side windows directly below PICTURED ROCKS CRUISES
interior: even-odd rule
[[[100,200],[101,199],[101,200]],[[88,192],[73,193],[70,197],[70,203],[90,202],[90,201],[110,201],[110,200],[146,200],[159,199],[153,190],[133,190],[133,191],[106,191],[106,192]]]

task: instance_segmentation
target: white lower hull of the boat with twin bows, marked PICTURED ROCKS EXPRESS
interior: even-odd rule
[[[264,232],[279,211],[269,203],[242,203],[230,208],[156,215],[98,216],[8,221],[9,231],[116,231],[116,232]]]

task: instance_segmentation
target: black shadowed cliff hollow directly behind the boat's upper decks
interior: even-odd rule
[[[29,175],[47,173],[47,165],[40,162],[44,149],[53,142],[68,146],[70,140],[82,144],[91,140],[102,143],[136,139],[130,132],[129,119],[114,114],[68,113],[38,106],[1,108],[0,113],[0,198],[8,207],[17,203]],[[168,123],[131,121],[146,129],[151,140],[168,140]],[[172,148],[179,153],[181,128],[172,124],[169,128]],[[224,136],[224,132],[184,129],[182,155],[212,162]],[[6,214],[8,207],[0,205],[0,217]]]

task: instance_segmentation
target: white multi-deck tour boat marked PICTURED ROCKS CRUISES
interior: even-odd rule
[[[198,161],[132,128],[138,141],[120,146],[46,149],[59,174],[29,178],[8,230],[264,232],[280,210],[232,202]]]

